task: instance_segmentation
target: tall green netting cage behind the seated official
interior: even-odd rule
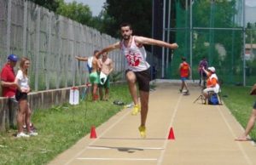
[[[166,78],[179,78],[181,56],[187,57],[192,78],[199,79],[199,62],[206,57],[219,79],[229,84],[252,85],[256,78],[256,29],[245,22],[244,0],[165,1],[165,38],[176,38],[173,60],[166,50]],[[256,12],[253,13],[256,16]],[[175,16],[173,16],[175,15]]]

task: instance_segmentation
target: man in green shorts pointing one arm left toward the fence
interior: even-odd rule
[[[98,85],[100,83],[100,75],[99,75],[99,72],[98,72],[98,70],[99,70],[98,69],[98,58],[99,58],[99,56],[97,55],[98,52],[99,52],[98,50],[94,51],[92,59],[90,59],[90,57],[79,57],[79,56],[75,57],[77,60],[88,61],[88,63],[91,60],[91,64],[88,64],[88,65],[91,65],[91,70],[89,71],[90,72],[89,78],[90,78],[90,83],[91,83],[92,88],[93,88],[92,91],[91,91],[93,101],[98,100],[97,89],[98,89]]]

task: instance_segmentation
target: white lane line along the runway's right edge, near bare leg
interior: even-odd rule
[[[234,133],[233,129],[230,126],[230,123],[227,121],[227,119],[224,117],[223,112],[221,111],[221,109],[219,108],[219,105],[217,105],[217,109],[218,112],[220,113],[221,117],[223,118],[225,124],[227,125],[227,127],[230,130],[230,133],[232,134],[232,136],[234,137],[234,139],[236,138],[236,134]],[[237,142],[236,145],[238,145],[238,148],[240,149],[242,155],[244,156],[245,160],[247,161],[247,164],[249,165],[253,165],[253,162],[251,161],[251,159],[249,158],[249,156],[247,156],[246,151],[244,151],[244,149],[241,146],[241,142]]]

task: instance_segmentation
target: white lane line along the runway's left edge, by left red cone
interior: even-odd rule
[[[98,139],[100,139],[104,134],[106,134],[111,128],[113,128],[116,124],[118,124],[120,121],[122,121],[130,113],[131,113],[131,111],[127,111],[123,117],[120,117],[119,120],[117,120],[116,122],[113,122],[113,124],[110,127],[108,127],[102,134],[100,134],[97,139],[94,139],[93,141],[91,141],[89,145],[95,144]],[[81,155],[86,150],[87,150],[87,148],[84,147],[83,150],[79,151],[75,156],[73,156],[73,158],[69,159],[65,164],[69,164],[74,159],[76,159],[76,157]]]

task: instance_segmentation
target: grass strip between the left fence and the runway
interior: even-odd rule
[[[38,136],[17,139],[16,130],[0,134],[0,164],[46,164],[89,134],[92,125],[99,126],[123,109],[123,106],[113,105],[113,100],[131,103],[126,84],[111,87],[108,101],[86,100],[79,105],[35,110],[32,122],[38,129]]]

